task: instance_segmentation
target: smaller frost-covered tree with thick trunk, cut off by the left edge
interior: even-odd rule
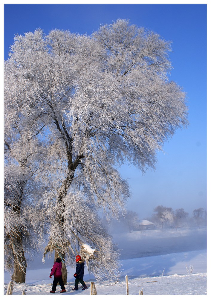
[[[12,280],[24,283],[25,254],[32,256],[43,242],[44,215],[36,205],[42,193],[36,176],[39,144],[31,121],[20,120],[17,107],[6,97],[4,112],[4,265],[13,273]]]

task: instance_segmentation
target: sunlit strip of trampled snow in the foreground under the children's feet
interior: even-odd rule
[[[90,283],[86,282],[90,287]],[[129,295],[139,295],[139,290],[143,290],[143,295],[207,295],[207,273],[169,275],[163,277],[129,278]],[[124,277],[115,282],[95,282],[97,295],[126,295],[126,282]],[[72,291],[74,282],[67,283],[66,293],[62,295],[90,295],[90,288],[82,291]],[[12,295],[22,295],[25,290],[26,295],[52,295],[51,284],[28,285],[26,283],[15,284]],[[7,284],[4,285],[4,294],[7,291]],[[56,293],[60,294],[60,286],[57,286]]]

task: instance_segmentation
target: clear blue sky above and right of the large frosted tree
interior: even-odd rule
[[[169,80],[182,86],[189,106],[188,129],[176,131],[158,153],[156,171],[143,175],[121,167],[132,196],[127,209],[140,219],[158,205],[184,208],[189,216],[207,206],[207,5],[206,4],[4,4],[4,60],[16,33],[37,28],[88,33],[117,19],[155,31],[172,41]]]

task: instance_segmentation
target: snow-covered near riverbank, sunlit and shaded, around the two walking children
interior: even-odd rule
[[[94,277],[85,271],[84,280],[87,286],[94,281],[97,295],[126,295],[126,281],[125,276],[128,275],[129,295],[139,295],[139,290],[143,288],[143,295],[207,295],[207,264],[206,264],[206,250],[191,251],[183,253],[168,254],[163,256],[142,257],[131,260],[121,260],[122,276],[118,281],[104,281],[98,283]],[[141,273],[149,273],[151,263],[158,265],[162,263],[163,269],[171,260],[178,260],[174,266],[169,270],[169,274],[165,275],[163,269],[157,276],[140,276]],[[176,274],[186,272],[185,264],[194,265],[193,274]],[[145,268],[144,268],[145,267]],[[166,267],[167,268],[167,267]],[[142,269],[142,270],[141,270]],[[146,270],[148,269],[148,271]],[[161,268],[160,268],[161,269]],[[74,269],[68,267],[68,283],[65,286],[66,293],[60,294],[60,286],[56,288],[56,294],[53,295],[90,295],[90,288],[82,291],[72,291],[74,288]],[[10,281],[9,273],[5,273],[4,294],[7,291],[7,285]],[[80,286],[80,284],[79,284]],[[13,286],[13,295],[21,295],[25,290],[26,295],[51,295],[49,292],[52,288],[52,280],[49,278],[49,269],[36,269],[27,271],[26,283],[15,284]]]

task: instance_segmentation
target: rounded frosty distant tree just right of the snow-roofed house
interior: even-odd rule
[[[163,229],[165,226],[171,226],[174,221],[174,212],[172,208],[167,208],[162,205],[154,209],[153,220]]]

